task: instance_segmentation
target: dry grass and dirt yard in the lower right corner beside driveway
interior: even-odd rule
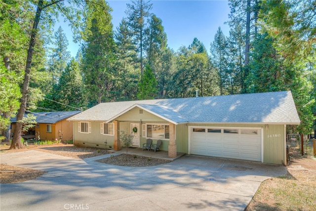
[[[287,173],[264,181],[246,211],[316,211],[316,158],[290,145]]]

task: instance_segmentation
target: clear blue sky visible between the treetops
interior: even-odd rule
[[[126,17],[127,0],[108,0],[112,7],[113,29],[116,30],[123,17]],[[167,34],[168,46],[175,51],[180,46],[189,46],[194,38],[201,41],[209,52],[218,27],[226,36],[229,35],[228,21],[230,8],[227,0],[152,0],[152,13],[162,20]],[[76,56],[79,44],[72,42],[72,32],[67,23],[57,23],[61,26],[69,41],[69,50]]]

